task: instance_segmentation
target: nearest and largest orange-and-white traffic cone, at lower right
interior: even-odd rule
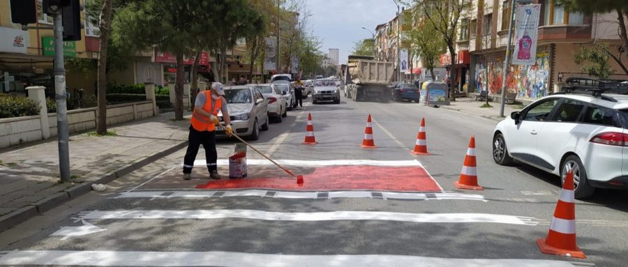
[[[587,256],[576,245],[576,200],[574,199],[574,171],[567,171],[565,182],[550,229],[545,239],[537,239],[537,245],[545,254],[586,259]]]

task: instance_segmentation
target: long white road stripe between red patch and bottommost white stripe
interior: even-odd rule
[[[151,210],[151,211],[88,211],[80,214],[83,220],[135,219],[224,219],[241,218],[271,221],[329,221],[382,220],[396,222],[484,222],[499,224],[536,225],[535,218],[489,213],[393,213],[385,211],[329,211],[313,213],[283,213],[255,210]]]

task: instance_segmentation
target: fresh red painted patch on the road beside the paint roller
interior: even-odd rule
[[[264,173],[261,171],[260,173]],[[255,177],[222,179],[197,185],[200,189],[267,188],[277,190],[390,190],[442,191],[423,167],[336,166],[317,167],[311,174],[302,174],[304,184],[294,178]]]

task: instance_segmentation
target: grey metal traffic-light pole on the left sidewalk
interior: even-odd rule
[[[68,107],[66,103],[66,70],[63,67],[63,17],[61,7],[54,10],[54,97],[57,100],[57,142],[61,181],[70,181],[70,148],[68,140]]]

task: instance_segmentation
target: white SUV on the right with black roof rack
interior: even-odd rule
[[[498,123],[493,160],[509,165],[515,159],[562,181],[573,169],[576,198],[589,197],[595,188],[627,189],[628,96],[623,93],[628,84],[613,87],[622,95],[606,94],[600,89],[604,82],[579,86],[582,80],[595,81],[574,79],[577,85],[570,86],[568,79],[565,93],[541,98]]]

